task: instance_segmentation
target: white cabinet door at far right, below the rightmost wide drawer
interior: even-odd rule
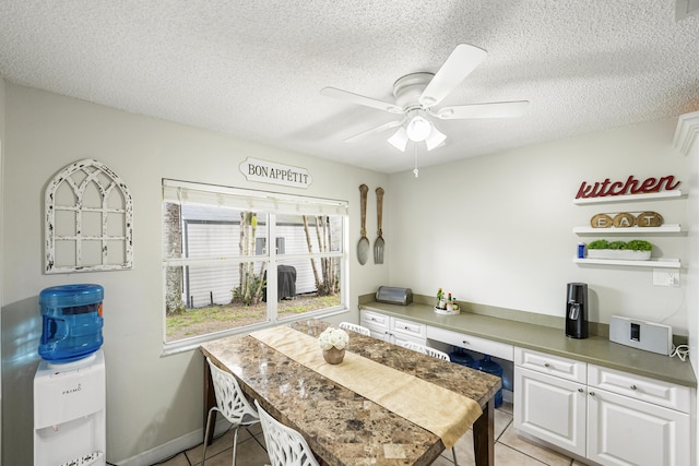
[[[601,465],[689,465],[689,416],[589,389],[588,458]]]

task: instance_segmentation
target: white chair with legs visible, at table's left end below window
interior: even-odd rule
[[[260,416],[254,406],[245,397],[240,390],[240,385],[230,372],[218,369],[211,359],[206,358],[206,363],[211,370],[211,379],[214,384],[214,393],[216,395],[216,406],[209,409],[206,417],[206,430],[204,430],[204,452],[201,465],[206,462],[206,433],[211,425],[212,416],[216,416],[216,411],[221,413],[228,422],[230,422],[235,432],[233,434],[233,466],[236,466],[236,447],[238,445],[238,429],[240,426],[252,426],[260,422]]]

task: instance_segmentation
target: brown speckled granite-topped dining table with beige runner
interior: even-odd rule
[[[328,326],[300,321],[201,350],[300,432],[321,464],[429,465],[472,425],[476,464],[494,464],[499,378],[355,332],[343,362],[328,365],[316,340]],[[204,367],[205,418],[215,396]]]

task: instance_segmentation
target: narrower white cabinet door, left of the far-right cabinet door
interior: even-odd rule
[[[584,385],[514,367],[514,428],[585,454]]]

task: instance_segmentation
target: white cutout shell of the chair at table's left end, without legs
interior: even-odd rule
[[[216,405],[228,422],[238,426],[249,426],[259,421],[254,406],[242,394],[240,385],[230,372],[218,369],[211,359],[206,358],[214,383]]]

